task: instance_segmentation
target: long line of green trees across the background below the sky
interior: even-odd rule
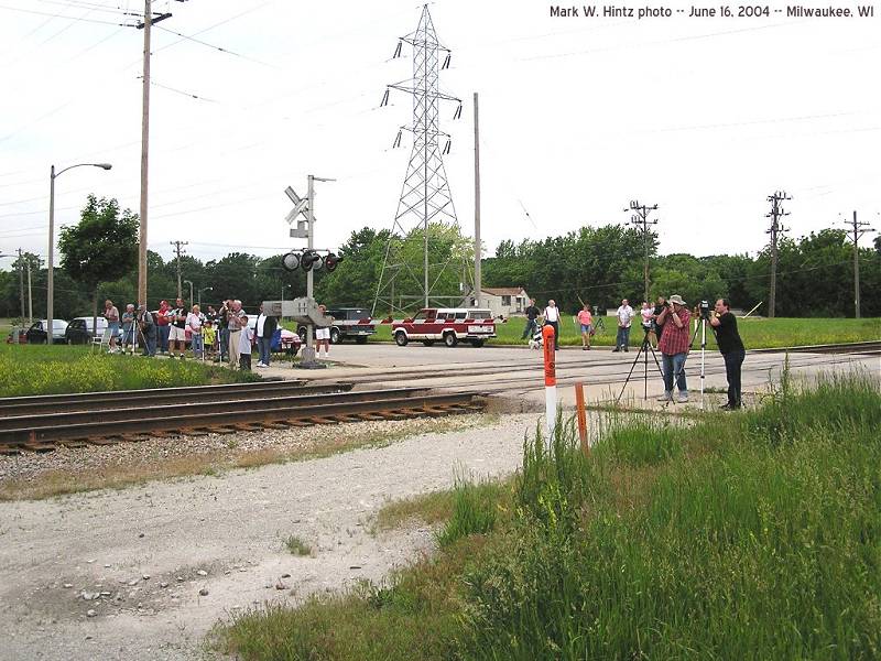
[[[316,299],[331,306],[370,308],[377,284],[389,253],[390,231],[363,227],[352,231],[339,248],[342,262],[333,273],[315,273]],[[80,214],[80,223],[62,230],[61,259],[55,269],[55,316],[73,318],[94,312],[98,301],[111,299],[117,304],[134,302],[138,283],[138,216],[121,210],[115,199],[90,196]],[[422,279],[422,239],[392,237],[391,252],[412,262],[413,278],[400,279],[399,295],[420,295]],[[650,297],[681,294],[689,303],[729,297],[732,305],[766,314],[771,273],[770,250],[757,257],[718,254],[694,257],[687,253],[661,256],[657,235],[646,241],[650,262]],[[472,246],[448,226],[429,231],[429,263],[449,264],[438,281],[438,294],[455,296],[461,292],[459,264],[471,261]],[[496,256],[482,261],[483,286],[523,286],[540,302],[555,299],[566,311],[581,302],[617,307],[621,299],[639,303],[643,299],[644,248],[642,234],[621,225],[583,227],[558,237],[502,241]],[[305,295],[306,277],[302,271],[282,268],[278,254],[258,257],[232,251],[220,259],[202,261],[184,254],[181,280],[193,282],[193,297],[203,305],[218,304],[227,297],[240,299],[246,308],[263,300],[293,299]],[[412,254],[411,254],[412,253]],[[859,252],[861,312],[881,316],[881,241]],[[45,316],[46,269],[35,254],[23,253],[11,271],[0,271],[0,316],[21,315],[20,272],[31,266],[31,286],[35,318]],[[148,252],[149,305],[155,308],[162,299],[177,295],[177,261],[163,260]],[[432,278],[434,280],[434,278]],[[189,286],[183,286],[189,302]],[[196,301],[193,301],[196,302]],[[26,305],[26,301],[25,301]],[[26,307],[25,307],[26,313]],[[388,311],[378,311],[384,315]],[[853,253],[845,230],[827,229],[798,239],[784,238],[777,259],[777,316],[829,317],[853,315]]]

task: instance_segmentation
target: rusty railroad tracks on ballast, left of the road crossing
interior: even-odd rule
[[[470,413],[486,405],[486,398],[474,392],[427,388],[352,391],[351,387],[275,382],[8,398],[0,400],[0,453],[50,452],[58,445],[112,445],[181,434],[405,420]]]

